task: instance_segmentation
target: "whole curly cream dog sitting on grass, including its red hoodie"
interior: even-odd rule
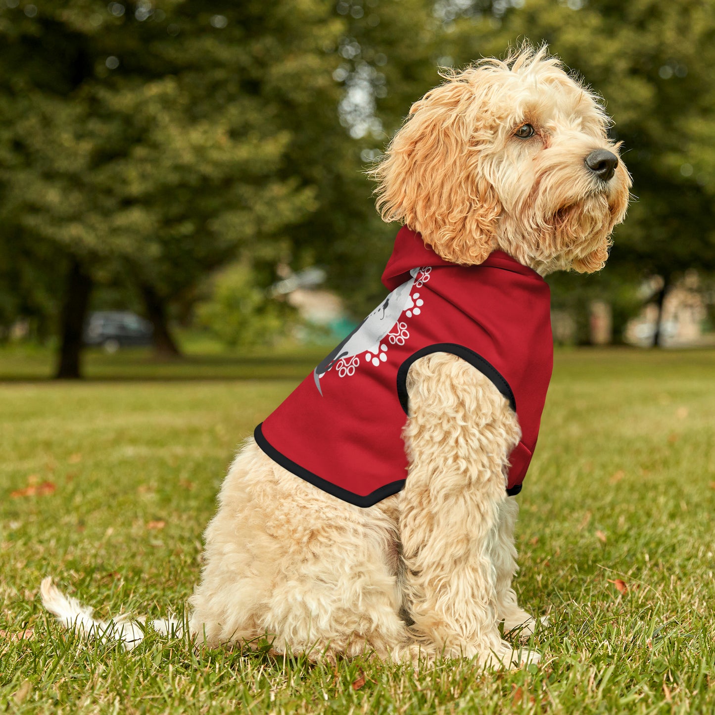
[[[538,659],[498,630],[534,625],[508,493],[551,375],[543,275],[599,270],[626,213],[607,127],[545,49],[450,72],[414,104],[374,170],[383,218],[405,225],[393,292],[237,455],[191,598],[199,641]],[[87,616],[49,579],[43,596]]]

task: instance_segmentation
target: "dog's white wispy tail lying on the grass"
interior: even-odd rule
[[[129,618],[117,616],[109,621],[97,621],[92,618],[93,609],[89,606],[82,606],[77,598],[65,596],[54,583],[52,577],[47,576],[40,584],[40,596],[42,605],[57,620],[70,630],[82,633],[85,636],[99,638],[102,643],[107,641],[119,641],[124,649],[131,651],[138,646],[144,638],[144,628],[146,618]],[[176,618],[159,618],[151,621],[155,631],[164,636],[181,636],[184,630],[183,623]]]

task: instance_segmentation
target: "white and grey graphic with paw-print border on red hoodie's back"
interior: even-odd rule
[[[431,267],[413,268],[410,280],[398,286],[383,300],[358,327],[335,347],[325,360],[313,370],[313,379],[318,392],[322,395],[320,380],[335,368],[338,377],[355,375],[360,365],[360,356],[365,360],[365,367],[373,365],[379,368],[388,360],[388,345],[405,345],[410,337],[406,318],[420,315],[424,300],[419,292],[413,293],[414,287],[422,287],[430,280]],[[403,317],[403,315],[405,317]]]

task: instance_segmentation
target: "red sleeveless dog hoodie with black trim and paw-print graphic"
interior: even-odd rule
[[[390,295],[257,426],[276,463],[356,506],[407,478],[405,379],[415,360],[450,352],[488,377],[516,410],[521,442],[506,484],[517,494],[536,446],[553,365],[548,285],[501,251],[460,266],[403,227],[383,273]]]

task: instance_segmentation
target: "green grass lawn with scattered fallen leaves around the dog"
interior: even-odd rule
[[[180,613],[237,443],[316,357],[94,355],[94,381],[0,385],[0,711],[715,712],[713,351],[557,354],[518,497],[539,666],[332,669],[155,633],[127,654],[44,615],[49,573],[99,616]],[[41,359],[0,354],[0,374]]]

